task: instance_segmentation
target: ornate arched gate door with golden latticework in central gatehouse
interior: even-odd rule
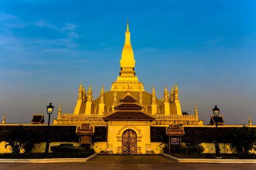
[[[122,134],[122,154],[137,154],[137,133],[125,130]]]

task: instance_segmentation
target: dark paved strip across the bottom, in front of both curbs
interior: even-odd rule
[[[256,170],[256,164],[0,163],[0,170]]]

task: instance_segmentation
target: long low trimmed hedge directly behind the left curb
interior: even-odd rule
[[[1,153],[0,159],[87,158],[93,153],[93,149],[82,153]]]

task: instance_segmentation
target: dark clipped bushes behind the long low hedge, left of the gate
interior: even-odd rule
[[[80,152],[88,152],[88,150],[84,147],[68,147],[68,146],[51,146],[51,151],[54,153],[80,153]]]

